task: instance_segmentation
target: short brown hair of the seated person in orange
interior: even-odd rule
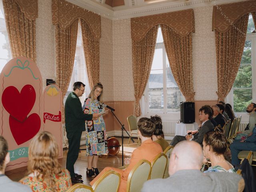
[[[151,137],[155,131],[155,124],[150,118],[142,117],[138,121],[138,130],[144,137]]]

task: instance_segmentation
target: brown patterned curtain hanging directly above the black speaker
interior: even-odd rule
[[[192,78],[192,34],[181,36],[161,24],[164,46],[172,74],[186,101],[194,102]]]

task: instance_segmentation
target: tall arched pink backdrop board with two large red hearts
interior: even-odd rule
[[[10,60],[0,74],[0,134],[8,141],[6,170],[26,166],[30,140],[42,130],[42,76],[26,57]]]

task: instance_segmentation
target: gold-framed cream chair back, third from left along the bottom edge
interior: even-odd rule
[[[144,182],[149,178],[151,164],[148,160],[140,160],[129,173],[126,192],[140,192]]]

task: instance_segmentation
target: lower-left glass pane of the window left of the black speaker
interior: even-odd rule
[[[149,108],[151,111],[162,111],[164,106],[162,105],[163,88],[150,88],[149,94]]]

